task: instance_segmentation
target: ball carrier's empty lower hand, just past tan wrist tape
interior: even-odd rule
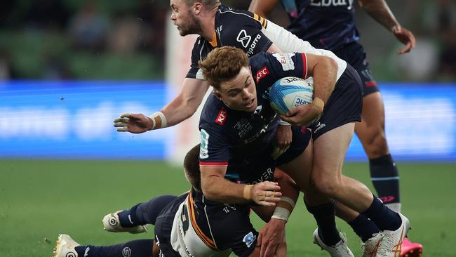
[[[282,193],[279,192],[279,183],[264,181],[253,185],[251,197],[253,202],[264,206],[276,206]]]

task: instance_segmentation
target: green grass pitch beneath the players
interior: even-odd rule
[[[95,245],[152,237],[152,229],[142,235],[105,232],[101,219],[155,195],[177,195],[189,188],[182,170],[163,162],[0,159],[0,167],[1,257],[52,256],[58,233]],[[456,256],[456,165],[398,167],[403,212],[413,228],[410,239],[424,244],[425,257]],[[367,164],[346,164],[344,173],[371,185]],[[253,223],[262,225],[255,215]],[[342,220],[337,223],[360,256],[354,232]],[[327,256],[311,243],[315,226],[299,202],[287,226],[288,256]]]

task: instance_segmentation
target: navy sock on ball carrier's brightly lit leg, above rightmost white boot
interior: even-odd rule
[[[397,230],[402,223],[399,214],[391,211],[375,195],[372,204],[361,214],[370,218],[380,230]]]

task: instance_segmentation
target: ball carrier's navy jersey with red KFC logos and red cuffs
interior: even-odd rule
[[[227,169],[225,178],[241,183],[255,183],[274,173],[270,154],[279,115],[269,104],[269,89],[283,77],[307,77],[307,58],[304,53],[259,53],[250,58],[250,67],[257,89],[255,112],[232,110],[210,95],[199,122],[200,165],[236,166],[245,171],[257,167],[241,173]]]

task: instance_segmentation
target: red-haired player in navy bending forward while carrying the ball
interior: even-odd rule
[[[293,138],[290,150],[280,157],[286,159],[286,164],[281,163],[280,158],[276,164],[294,179],[313,182],[311,186],[297,180],[306,191],[304,197],[308,205],[311,206],[308,201],[313,197],[318,199],[316,201],[324,201],[322,196],[332,197],[372,220],[380,229],[378,237],[382,238],[377,241],[375,252],[370,253],[372,256],[394,256],[394,252],[400,251],[401,242],[410,229],[408,219],[384,206],[365,185],[341,173],[354,123],[361,121],[363,90],[356,70],[347,66],[337,79],[336,63],[325,56],[259,53],[248,60],[246,53],[229,46],[213,50],[199,65],[203,76],[215,88],[200,119],[201,187],[208,199],[241,202],[248,185],[229,180],[234,177],[241,183],[250,181],[243,178],[242,173],[230,172],[227,165],[242,159],[257,159],[259,164],[269,161],[269,131],[279,122],[269,105],[271,84],[283,77],[313,77],[313,103],[295,107],[287,116],[282,116],[291,124],[313,126],[311,174],[302,170],[306,162],[300,157],[306,152],[300,157],[293,152],[295,145],[302,145],[302,139],[295,142],[297,138]],[[234,153],[238,153],[239,159],[232,159],[236,156]],[[297,173],[300,174],[296,176]],[[314,195],[311,187],[321,195]]]

